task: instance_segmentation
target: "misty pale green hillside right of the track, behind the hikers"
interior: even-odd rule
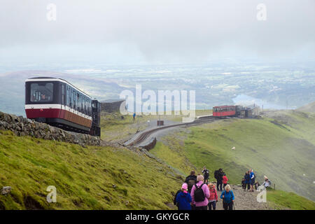
[[[220,120],[190,127],[190,134],[179,133],[187,137],[184,146],[174,149],[169,144],[158,144],[152,153],[186,173],[188,169],[181,167],[184,160],[189,160],[198,171],[204,165],[211,173],[222,167],[231,183],[240,183],[246,170],[252,167],[259,181],[266,175],[276,183],[276,189],[314,200],[315,147],[311,136],[315,116],[289,112],[280,118]],[[166,137],[165,142],[174,139],[176,134]],[[231,150],[233,146],[235,151]],[[167,151],[172,152],[172,157],[165,155]],[[178,158],[172,160],[176,155]]]

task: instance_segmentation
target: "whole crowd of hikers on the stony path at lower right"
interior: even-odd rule
[[[228,177],[223,169],[214,172],[216,186],[209,183],[209,170],[204,167],[202,175],[196,176],[195,171],[190,172],[185,182],[181,186],[181,190],[177,191],[174,197],[174,204],[179,210],[216,210],[218,202],[218,192],[221,192],[220,198],[223,200],[223,209],[232,210],[234,207],[235,196],[228,184]],[[243,190],[253,191],[253,186],[257,190],[258,182],[255,182],[255,174],[253,169],[249,169],[241,181]],[[265,188],[271,186],[271,182],[265,176],[265,182],[262,183]]]

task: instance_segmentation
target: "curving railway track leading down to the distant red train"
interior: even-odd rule
[[[154,132],[158,132],[160,130],[165,130],[167,128],[171,128],[171,127],[180,127],[180,126],[193,126],[193,125],[198,125],[200,123],[208,123],[214,120],[217,120],[218,118],[214,118],[212,116],[209,117],[203,117],[203,118],[199,118],[197,120],[194,120],[191,123],[181,123],[181,124],[176,124],[176,125],[167,125],[167,126],[163,126],[163,127],[157,127],[153,130],[148,130],[148,131],[144,131],[141,132],[141,134],[139,134],[139,136],[135,137],[134,139],[131,139],[127,142],[125,142],[126,146],[137,146],[139,144],[141,144],[141,142],[143,142],[144,140],[148,139],[148,137],[153,134]]]

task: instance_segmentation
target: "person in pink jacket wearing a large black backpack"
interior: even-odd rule
[[[207,210],[208,209],[208,198],[210,192],[207,184],[204,184],[204,176],[197,176],[197,183],[191,189],[192,203],[195,206],[195,210]]]

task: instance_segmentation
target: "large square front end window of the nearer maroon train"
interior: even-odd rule
[[[51,102],[53,86],[52,83],[31,83],[31,102]]]

